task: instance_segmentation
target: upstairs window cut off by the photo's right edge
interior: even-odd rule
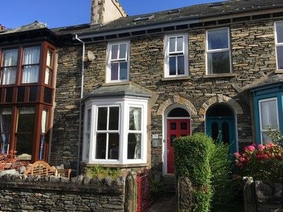
[[[283,69],[283,22],[275,22],[277,69]]]

